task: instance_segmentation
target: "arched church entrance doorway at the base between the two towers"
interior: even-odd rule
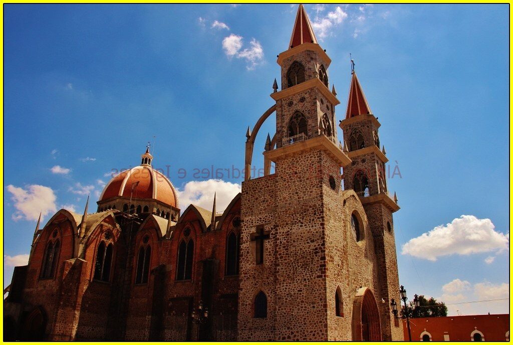
[[[378,304],[368,287],[361,287],[353,302],[352,340],[381,341]]]

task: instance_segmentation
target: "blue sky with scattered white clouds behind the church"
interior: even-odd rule
[[[401,283],[447,303],[508,297],[507,5],[305,8],[332,59],[338,120],[351,52],[382,124],[401,206]],[[296,9],[5,5],[4,285],[26,260],[40,210],[43,224],[63,206],[82,213],[87,194],[96,201],[112,169],[139,164],[148,141],[182,203],[208,207],[217,190],[226,205],[241,178],[194,178],[194,169],[242,169],[246,128],[272,105],[275,56]],[[258,167],[273,129],[271,117],[255,145]],[[449,312],[505,313],[508,304]]]

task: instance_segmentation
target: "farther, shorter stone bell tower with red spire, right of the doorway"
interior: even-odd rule
[[[345,119],[340,122],[344,133],[344,150],[351,164],[344,167],[344,189],[353,189],[360,197],[374,239],[381,298],[379,303],[383,340],[402,337],[398,320],[390,313],[389,301],[397,300],[399,276],[392,213],[399,210],[397,197],[388,191],[385,148],[380,149],[378,130],[381,124],[370,110],[354,70],[351,72]]]

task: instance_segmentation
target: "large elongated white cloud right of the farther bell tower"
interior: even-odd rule
[[[489,219],[461,216],[452,222],[439,225],[428,233],[412,238],[402,247],[402,254],[436,261],[438,257],[452,254],[469,255],[508,249],[509,238],[495,231]]]

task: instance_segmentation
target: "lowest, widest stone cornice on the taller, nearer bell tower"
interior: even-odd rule
[[[264,156],[273,162],[277,162],[280,159],[291,157],[315,148],[325,151],[339,166],[344,167],[351,163],[349,157],[346,156],[340,147],[323,135],[264,152]]]

